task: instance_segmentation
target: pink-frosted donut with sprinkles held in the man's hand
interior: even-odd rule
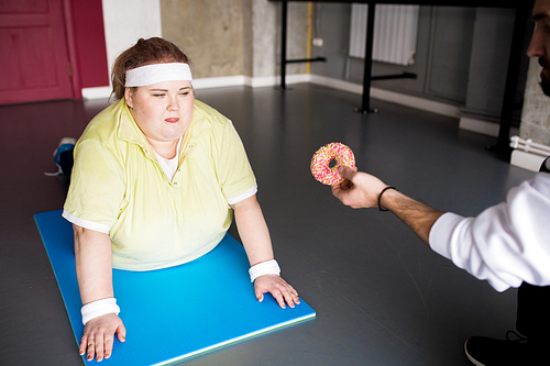
[[[330,167],[330,162],[336,165]],[[323,185],[334,186],[344,181],[344,177],[338,173],[341,166],[355,167],[355,156],[350,147],[342,143],[330,143],[319,148],[311,158],[311,174],[314,178]]]

